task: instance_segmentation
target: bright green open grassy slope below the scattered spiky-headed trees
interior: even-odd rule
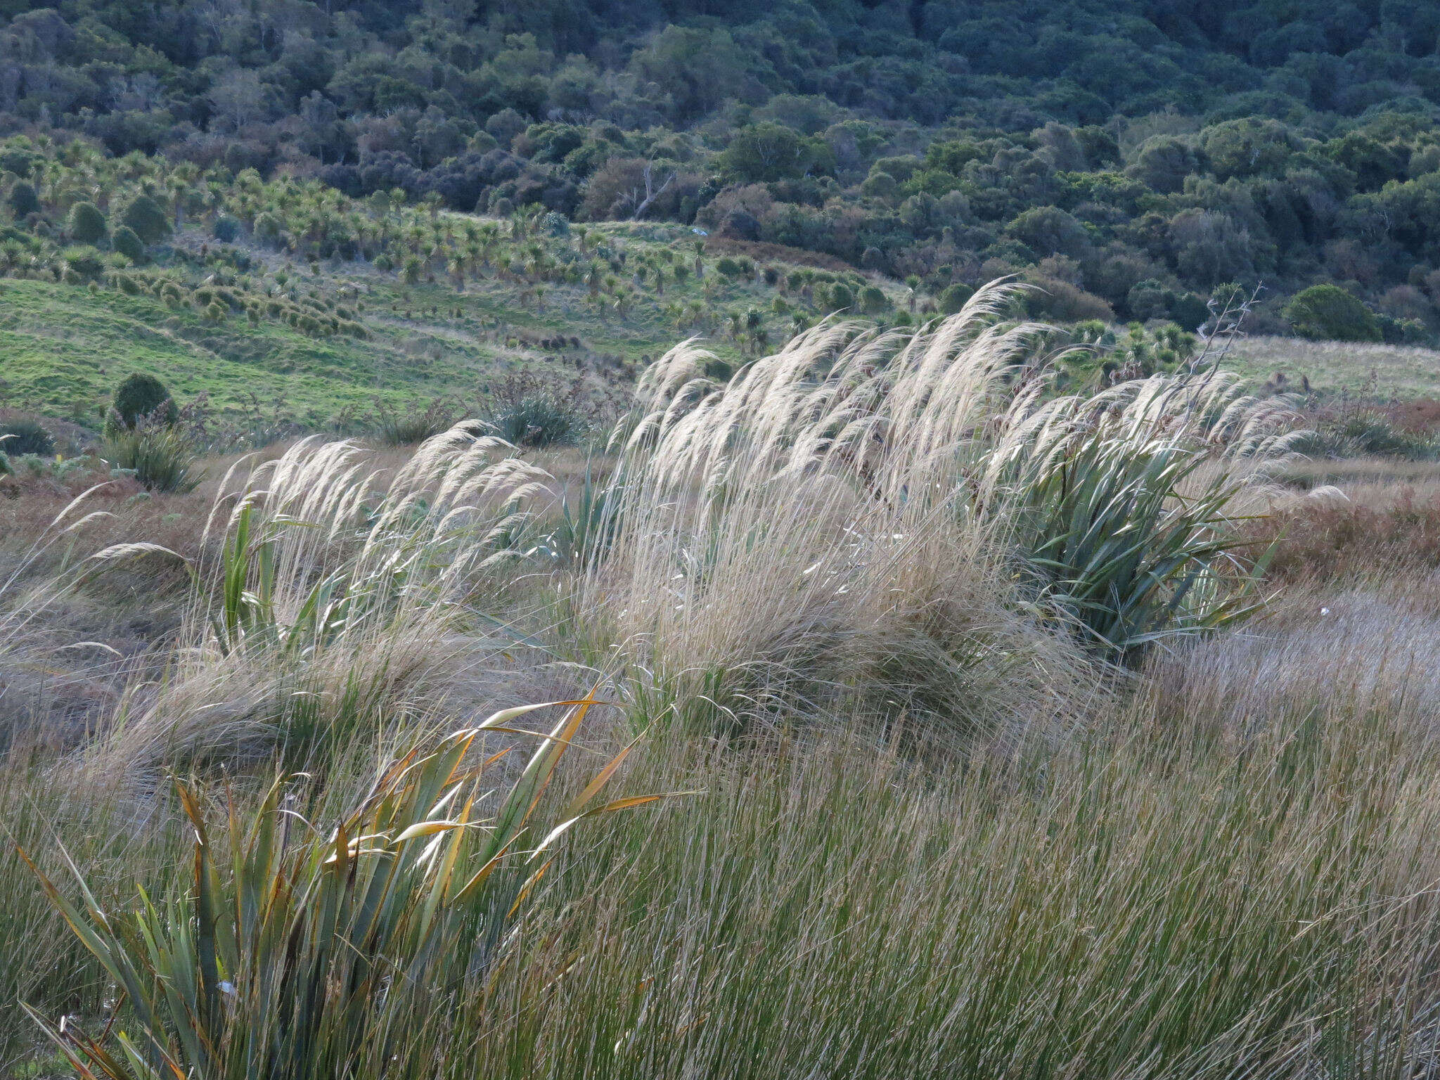
[[[672,246],[684,258],[688,251],[687,229],[621,225],[605,232],[619,236],[632,255]],[[186,239],[199,246],[199,236]],[[253,255],[271,269],[285,265],[271,252]],[[372,340],[310,338],[279,321],[252,327],[235,315],[212,325],[192,307],[171,310],[148,295],[0,279],[0,405],[95,423],[115,383],[131,372],[147,372],[164,379],[181,402],[203,392],[223,413],[252,403],[255,395],[291,419],[324,425],[337,412],[369,409],[376,399],[472,396],[507,370],[573,376],[576,356],[590,357],[592,379],[600,370],[605,379],[625,380],[635,366],[694,333],[677,327],[662,307],[704,295],[694,278],[672,282],[664,297],[647,285],[635,289],[624,317],[609,310],[602,317],[579,285],[547,285],[543,308],[537,308],[521,287],[492,278],[472,279],[456,294],[446,281],[406,288],[395,274],[363,264],[328,264],[318,276],[302,268],[291,272],[305,291],[334,297],[341,288],[357,288]],[[707,281],[720,282],[711,301],[716,311],[759,308],[772,343],[782,340],[786,320],[769,312],[773,288],[724,281],[713,268]],[[890,291],[899,295],[897,287]],[[531,340],[562,333],[582,341],[564,359]],[[708,344],[726,359],[740,356],[723,336]],[[595,363],[595,357],[619,363]]]

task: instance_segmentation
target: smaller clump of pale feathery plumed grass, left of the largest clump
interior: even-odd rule
[[[544,490],[544,471],[511,449],[461,423],[389,481],[344,441],[301,441],[228,494],[232,468],[206,526],[223,553],[174,668],[131,696],[95,765],[134,775],[302,750],[392,706],[419,708],[428,677],[467,647],[467,599],[520,554],[526,505]]]

